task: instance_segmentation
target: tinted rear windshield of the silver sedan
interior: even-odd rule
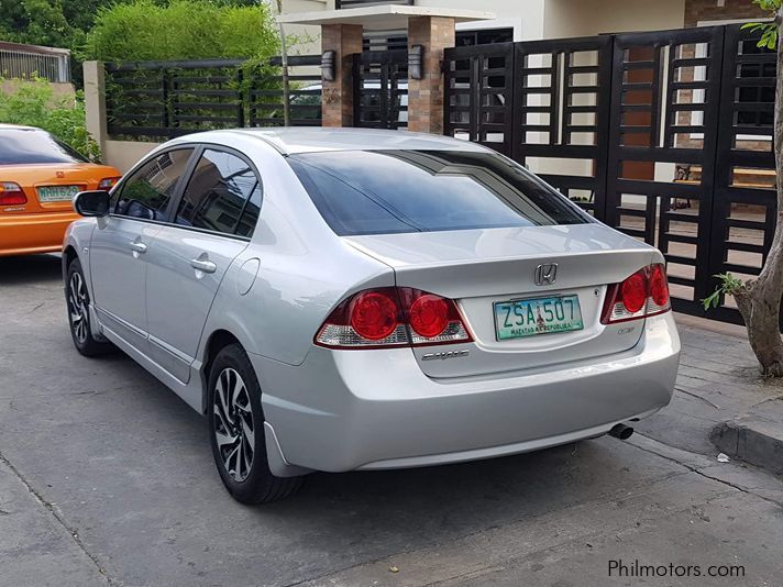
[[[290,155],[288,163],[341,236],[589,222],[495,153],[339,151]]]

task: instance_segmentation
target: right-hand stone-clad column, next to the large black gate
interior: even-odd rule
[[[408,130],[443,134],[443,49],[454,46],[454,19],[411,16],[408,20],[408,51],[424,47],[422,79],[408,79]]]

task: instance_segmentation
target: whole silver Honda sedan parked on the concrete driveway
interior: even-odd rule
[[[312,470],[626,436],[671,399],[661,253],[479,145],[211,131],[74,204],[74,344],[121,348],[206,414],[242,502]]]

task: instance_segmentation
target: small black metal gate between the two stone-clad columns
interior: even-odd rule
[[[408,51],[365,51],[353,56],[353,125],[408,126]]]

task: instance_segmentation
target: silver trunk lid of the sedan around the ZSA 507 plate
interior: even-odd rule
[[[345,240],[394,268],[397,286],[456,300],[474,343],[415,348],[422,370],[432,377],[501,373],[608,355],[632,347],[641,336],[643,319],[604,325],[600,313],[607,286],[649,265],[653,250],[599,223]],[[538,285],[539,266],[547,272],[552,265],[556,265],[554,279]],[[495,303],[571,296],[578,300],[582,329],[498,340]]]

